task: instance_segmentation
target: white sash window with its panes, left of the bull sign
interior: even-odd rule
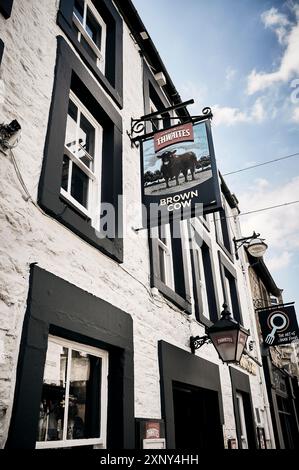
[[[71,92],[61,179],[61,195],[97,226],[103,128]]]

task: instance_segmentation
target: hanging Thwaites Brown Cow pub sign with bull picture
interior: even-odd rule
[[[210,121],[177,125],[141,145],[143,226],[221,208]]]

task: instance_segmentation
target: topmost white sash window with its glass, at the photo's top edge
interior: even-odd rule
[[[75,0],[73,24],[78,41],[104,73],[107,27],[91,0]]]

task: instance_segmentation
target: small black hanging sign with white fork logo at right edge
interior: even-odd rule
[[[258,315],[266,346],[281,346],[299,339],[294,305],[282,304],[258,309]]]

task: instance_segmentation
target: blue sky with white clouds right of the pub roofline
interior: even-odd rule
[[[223,174],[299,152],[299,0],[133,2],[190,111],[212,107]],[[226,181],[243,212],[299,200],[299,157]],[[299,204],[240,220],[299,310]]]

